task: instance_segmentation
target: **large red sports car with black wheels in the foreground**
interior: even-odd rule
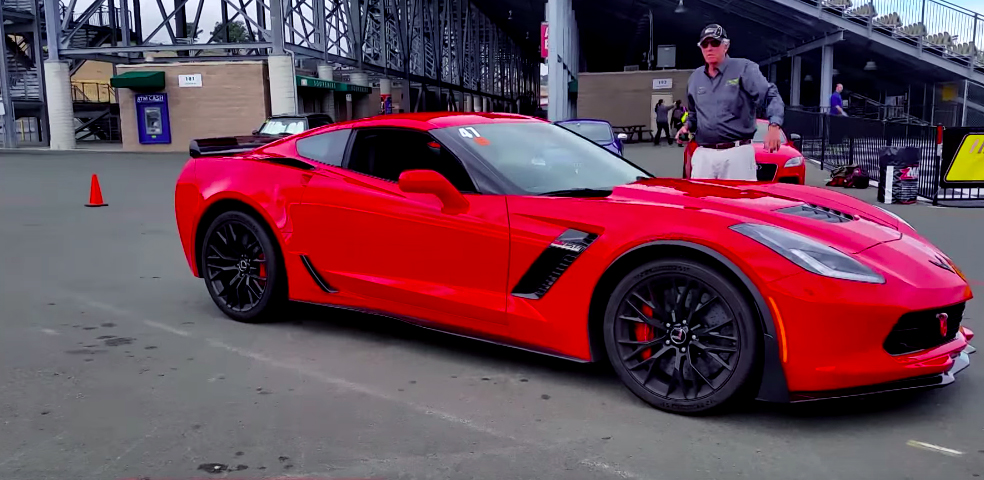
[[[953,262],[822,188],[655,178],[511,114],[386,115],[192,156],[181,243],[241,322],[286,301],[375,312],[609,361],[681,413],[937,387],[973,351]]]

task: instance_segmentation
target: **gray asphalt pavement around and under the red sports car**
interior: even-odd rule
[[[681,153],[628,156],[678,176]],[[0,152],[0,478],[984,474],[976,355],[945,389],[690,418],[643,404],[604,365],[387,319],[295,306],[280,323],[235,323],[181,252],[184,160]],[[83,206],[93,173],[107,207]],[[984,211],[890,209],[984,291]],[[981,313],[972,301],[978,332]]]

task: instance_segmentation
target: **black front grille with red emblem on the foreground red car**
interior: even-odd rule
[[[963,321],[965,303],[946,308],[910,312],[902,315],[885,339],[885,351],[903,355],[938,347],[953,340]],[[941,326],[941,314],[946,315],[946,333]]]

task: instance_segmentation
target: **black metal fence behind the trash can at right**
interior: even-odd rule
[[[841,117],[787,109],[784,129],[801,137],[807,158],[820,168],[863,167],[872,180],[881,181],[879,157],[885,147],[914,147],[919,151],[919,195],[934,205],[941,201],[984,201],[984,189],[940,188],[941,158],[937,154],[937,127],[865,118]]]

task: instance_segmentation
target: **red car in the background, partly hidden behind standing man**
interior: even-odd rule
[[[755,137],[752,138],[752,145],[755,147],[758,181],[798,185],[806,183],[806,160],[803,154],[796,149],[793,140],[786,135],[786,132],[782,132],[779,150],[769,152],[765,149],[764,143],[769,122],[758,120],[757,127]],[[694,150],[697,150],[697,144],[687,142],[687,148],[683,151],[683,178],[690,178],[690,158],[693,156]]]

